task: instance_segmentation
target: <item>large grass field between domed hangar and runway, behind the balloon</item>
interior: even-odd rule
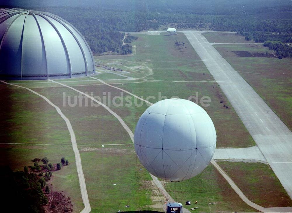
[[[166,36],[166,34],[137,34],[137,36],[139,36],[139,39],[134,42],[137,47],[135,55],[106,55],[96,57],[96,60],[108,66],[113,66],[112,64],[119,61],[119,63],[116,64],[121,65],[120,68],[127,72],[135,72],[129,68],[147,66],[152,70],[153,74],[148,75],[149,70],[145,68],[139,69],[140,73],[134,74],[146,76],[145,79],[148,79],[147,82],[119,84],[115,86],[128,90],[135,95],[143,96],[144,98],[153,95],[156,97],[156,100],[151,99],[150,101],[152,102],[158,101],[159,92],[161,96],[166,96],[168,98],[178,96],[184,99],[192,95],[196,96],[197,92],[199,102],[204,95],[209,96],[211,98],[211,105],[204,107],[204,109],[208,112],[215,124],[218,136],[217,147],[242,148],[255,145],[255,142],[223,94],[220,86],[214,82],[213,77],[206,69],[204,63],[192,46],[188,44],[184,34],[178,33],[176,36]],[[175,41],[185,42],[186,48],[176,47]],[[152,54],[149,54],[149,51],[152,52]],[[138,68],[135,70],[138,70]],[[172,80],[196,82],[172,82]],[[80,89],[80,87],[78,88]],[[112,96],[120,95],[119,90],[109,88],[108,86],[86,86],[84,90],[88,92],[94,90],[98,95],[101,95],[103,91],[109,90],[112,92]],[[116,92],[113,93],[114,91]],[[220,101],[222,101],[222,103],[220,103]],[[198,104],[200,104],[199,102]],[[140,100],[138,100],[137,103],[140,103]],[[223,105],[227,105],[229,108],[226,109]],[[121,107],[117,107],[114,111],[120,112],[120,108]],[[130,110],[128,108],[129,107],[123,107],[122,110],[130,111],[131,114],[124,116],[125,113],[121,112],[121,116],[129,127],[134,130],[135,124],[138,121],[138,116],[147,109],[147,106],[143,104],[141,107],[131,107]],[[230,128],[231,126],[232,128]]]

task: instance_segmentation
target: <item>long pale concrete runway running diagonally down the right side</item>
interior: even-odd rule
[[[199,31],[183,31],[292,198],[292,133]]]

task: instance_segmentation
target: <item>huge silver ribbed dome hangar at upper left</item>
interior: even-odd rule
[[[0,79],[58,79],[95,73],[81,33],[47,12],[0,8]]]

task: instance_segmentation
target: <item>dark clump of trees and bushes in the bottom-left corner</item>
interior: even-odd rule
[[[23,171],[13,172],[8,166],[0,167],[2,203],[10,208],[10,212],[45,212],[43,205],[48,203],[45,194],[50,192],[47,182],[55,166],[47,157],[34,158],[32,162],[34,165],[25,166]],[[43,165],[39,165],[40,162]],[[61,169],[62,164],[68,165],[69,161],[62,157],[56,169]]]

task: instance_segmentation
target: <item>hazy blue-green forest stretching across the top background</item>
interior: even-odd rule
[[[131,53],[131,46],[122,44],[123,32],[157,30],[162,26],[178,30],[235,31],[255,42],[292,41],[292,6],[288,0],[185,0],[184,3],[179,0],[99,0],[86,1],[82,6],[77,0],[64,0],[46,7],[36,0],[28,2],[30,5],[20,1],[19,7],[59,15],[72,23],[97,53]],[[65,6],[66,2],[72,6]]]

